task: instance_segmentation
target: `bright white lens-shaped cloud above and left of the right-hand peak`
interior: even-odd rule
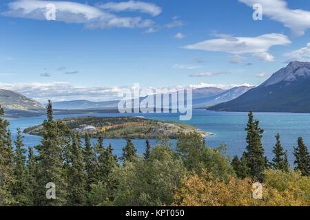
[[[256,37],[235,37],[237,41],[229,39],[212,39],[187,45],[189,50],[205,50],[209,52],[227,52],[231,54],[252,54],[262,61],[273,61],[273,56],[268,53],[270,47],[275,45],[288,45],[291,43],[283,34],[263,34]]]

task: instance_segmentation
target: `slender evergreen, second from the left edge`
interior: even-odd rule
[[[17,140],[15,144],[15,157],[14,157],[14,178],[15,182],[12,187],[12,195],[14,196],[15,204],[17,206],[27,206],[30,199],[30,186],[27,179],[27,170],[25,167],[27,150],[23,148],[23,135],[21,135],[21,129],[17,129]]]

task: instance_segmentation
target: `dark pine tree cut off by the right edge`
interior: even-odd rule
[[[293,155],[296,157],[294,164],[297,164],[295,170],[300,170],[303,176],[310,174],[310,155],[307,146],[304,144],[302,137],[298,137],[298,146],[294,147]]]

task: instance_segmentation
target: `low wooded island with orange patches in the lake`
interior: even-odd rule
[[[156,139],[161,135],[169,139],[177,139],[178,136],[190,132],[198,132],[203,136],[213,133],[198,131],[196,126],[181,122],[163,122],[150,120],[143,117],[95,117],[83,116],[63,118],[60,120],[71,131],[90,137],[103,137],[107,139]],[[42,135],[43,125],[32,126],[23,131],[30,135]]]

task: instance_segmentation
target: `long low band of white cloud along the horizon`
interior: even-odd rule
[[[249,86],[249,84],[242,84]],[[198,85],[171,85],[167,87],[142,87],[141,89],[155,89],[163,91],[167,89],[169,92],[178,91],[178,89],[197,89],[203,87],[216,87],[220,89],[231,89],[241,85],[221,85],[200,83]],[[70,85],[69,83],[54,82],[54,83],[0,83],[1,89],[17,91],[29,98],[33,98],[41,103],[48,100],[53,102],[65,100],[91,100],[91,101],[110,101],[119,100],[118,92],[121,89],[132,89],[133,86],[123,87],[81,87]]]

